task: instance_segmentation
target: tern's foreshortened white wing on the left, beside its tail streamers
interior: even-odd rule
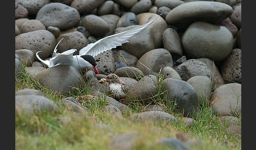
[[[73,61],[73,53],[76,49],[70,49],[62,53],[55,53],[54,57],[50,59],[50,67],[57,65],[70,65]]]

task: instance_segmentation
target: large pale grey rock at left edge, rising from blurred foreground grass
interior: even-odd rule
[[[58,106],[53,101],[41,95],[15,96],[15,111],[19,115],[54,113],[57,110]]]

